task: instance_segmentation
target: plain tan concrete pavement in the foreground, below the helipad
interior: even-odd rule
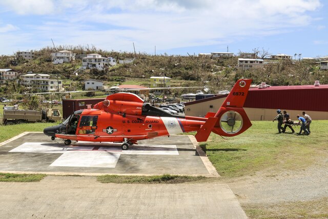
[[[0,182],[1,218],[247,218],[224,184],[101,184],[91,176]]]

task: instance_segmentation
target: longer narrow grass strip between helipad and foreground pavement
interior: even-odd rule
[[[190,182],[203,182],[204,176],[179,176],[179,175],[155,175],[155,176],[123,176],[123,175],[101,175],[97,180],[101,183],[140,183],[140,184],[177,184]]]

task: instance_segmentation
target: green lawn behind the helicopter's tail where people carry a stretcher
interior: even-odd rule
[[[327,150],[328,121],[313,121],[309,136],[287,133],[289,130],[276,134],[277,124],[268,121],[252,123],[249,130],[238,136],[224,140],[212,133],[209,141],[200,145],[221,176],[253,175],[268,168],[302,169]]]

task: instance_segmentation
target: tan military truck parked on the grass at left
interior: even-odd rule
[[[61,121],[61,114],[58,109],[47,108],[43,110],[14,110],[12,107],[5,107],[3,122],[5,125],[13,125],[28,122],[56,122]]]

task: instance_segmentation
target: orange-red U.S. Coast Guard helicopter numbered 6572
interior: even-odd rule
[[[159,136],[196,131],[197,142],[206,142],[211,132],[235,136],[252,126],[243,104],[252,79],[239,79],[217,112],[205,117],[173,115],[144,102],[133,93],[108,95],[93,108],[77,110],[63,123],[47,127],[44,134],[51,140],[122,143],[128,150],[137,141]]]

